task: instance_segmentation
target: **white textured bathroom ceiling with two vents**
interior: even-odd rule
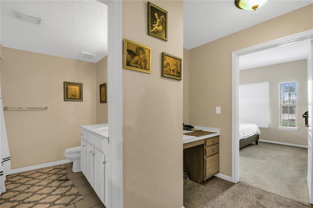
[[[1,0],[2,46],[88,62],[108,54],[107,5],[96,0]],[[17,19],[15,11],[42,19]],[[95,54],[93,59],[82,52]]]

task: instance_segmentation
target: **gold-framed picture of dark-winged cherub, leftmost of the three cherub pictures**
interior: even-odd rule
[[[124,68],[151,73],[151,48],[124,39]]]

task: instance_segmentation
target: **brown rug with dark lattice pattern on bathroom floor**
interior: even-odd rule
[[[63,167],[8,175],[1,208],[61,208],[84,198]]]

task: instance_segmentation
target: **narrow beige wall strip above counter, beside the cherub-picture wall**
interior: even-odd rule
[[[189,125],[189,51],[184,48],[184,55],[183,55],[183,66],[184,71],[182,73],[183,79],[183,102],[182,102],[182,109],[183,109],[183,123],[185,125]]]

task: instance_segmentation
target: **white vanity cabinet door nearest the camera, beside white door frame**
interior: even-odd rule
[[[105,168],[105,156],[98,149],[94,149],[94,191],[104,203],[104,168]]]

